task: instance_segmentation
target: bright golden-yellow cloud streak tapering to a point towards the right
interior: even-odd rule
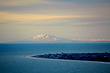
[[[88,18],[93,16],[80,16],[80,15],[41,15],[41,14],[19,14],[0,12],[0,22],[36,22],[40,20],[51,19],[68,19],[68,18]]]

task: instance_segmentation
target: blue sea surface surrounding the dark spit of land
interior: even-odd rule
[[[29,57],[61,52],[110,53],[110,43],[0,44],[0,73],[110,73],[110,62]]]

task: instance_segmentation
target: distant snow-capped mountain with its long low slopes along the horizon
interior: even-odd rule
[[[84,43],[84,42],[88,43],[91,41],[77,41],[77,40],[70,40],[66,38],[58,38],[56,36],[49,35],[49,34],[39,34],[27,40],[13,41],[9,43]],[[105,43],[108,41],[96,41],[96,43],[100,43],[100,42]]]

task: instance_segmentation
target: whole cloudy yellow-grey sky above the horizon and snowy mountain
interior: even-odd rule
[[[110,0],[0,0],[0,42],[37,34],[110,41]]]

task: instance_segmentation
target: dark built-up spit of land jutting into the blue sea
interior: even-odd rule
[[[56,53],[31,56],[35,58],[110,62],[110,53]]]

